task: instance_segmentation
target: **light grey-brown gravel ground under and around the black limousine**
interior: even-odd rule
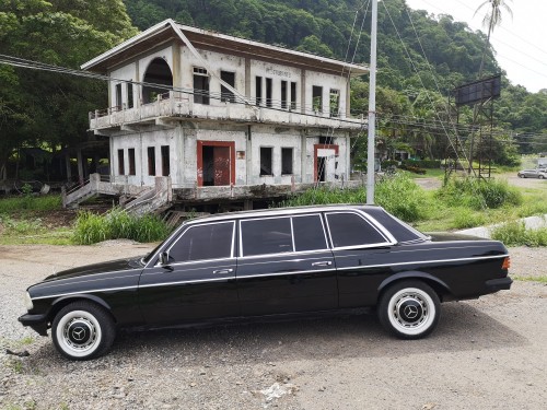
[[[0,247],[1,409],[547,408],[547,286],[534,281],[444,304],[435,332],[417,341],[388,337],[373,315],[342,316],[124,332],[105,358],[74,363],[18,324],[28,284],[149,248]],[[512,276],[545,276],[547,249],[511,255]]]

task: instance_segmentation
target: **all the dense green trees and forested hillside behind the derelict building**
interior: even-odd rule
[[[0,54],[78,68],[133,35],[133,24],[144,30],[167,17],[326,57],[369,61],[370,10],[362,0],[0,0]],[[450,15],[409,10],[405,0],[379,3],[382,140],[442,156],[447,142],[439,121],[446,120],[446,96],[477,78],[487,39]],[[490,46],[484,71],[500,71]],[[368,109],[366,81],[364,77],[352,85],[353,114]],[[104,106],[104,83],[0,63],[0,176],[18,147],[56,149],[84,139],[86,113]],[[503,138],[515,138],[522,152],[547,151],[547,92],[531,94],[504,79],[496,117],[500,129],[511,130],[500,131]],[[462,120],[472,119],[473,113],[464,110]]]

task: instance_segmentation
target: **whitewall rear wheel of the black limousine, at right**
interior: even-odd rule
[[[403,281],[389,286],[377,309],[380,323],[400,339],[419,339],[433,331],[439,323],[439,296],[421,281]]]

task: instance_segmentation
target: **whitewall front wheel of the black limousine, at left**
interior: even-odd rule
[[[80,301],[59,311],[51,325],[51,338],[65,358],[90,360],[106,353],[115,330],[108,312],[95,303]]]

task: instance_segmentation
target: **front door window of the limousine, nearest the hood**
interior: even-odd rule
[[[168,250],[170,261],[223,259],[232,256],[234,222],[188,227]]]

